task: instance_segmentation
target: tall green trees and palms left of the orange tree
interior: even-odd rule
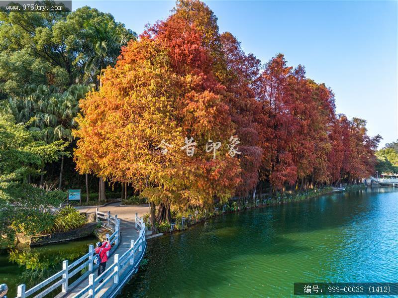
[[[0,12],[1,105],[17,122],[43,131],[46,142],[70,142],[60,162],[44,165],[40,182],[32,183],[47,180],[61,188],[66,176],[69,185],[79,188],[84,181],[69,159],[79,99],[99,87],[101,70],[114,65],[121,46],[135,38],[136,33],[112,15],[88,6],[70,13]],[[86,176],[87,189],[93,178]]]

